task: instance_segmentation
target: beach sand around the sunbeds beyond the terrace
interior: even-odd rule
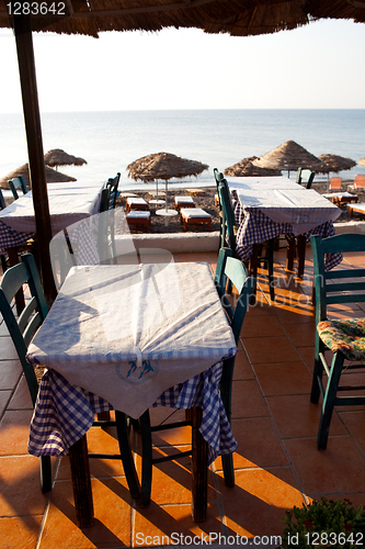
[[[343,189],[345,190],[347,188],[347,184],[351,184],[353,181],[346,181],[343,184]],[[324,194],[328,192],[328,184],[327,182],[313,182],[312,183],[312,189],[319,192],[320,194]],[[195,206],[196,208],[202,208],[206,212],[208,212],[212,215],[212,231],[219,231],[220,223],[219,223],[219,213],[218,213],[218,208],[215,205],[215,194],[217,193],[216,187],[209,187],[209,188],[204,188],[199,189],[201,191],[204,191],[203,195],[196,195],[193,197]],[[353,192],[353,191],[352,191]],[[134,191],[133,193],[136,197],[144,198],[147,202],[151,200],[152,194],[147,191]],[[160,193],[161,195],[162,193]],[[183,190],[183,189],[173,189],[172,187],[169,190],[168,194],[168,208],[173,209],[174,208],[174,197],[184,197],[189,195],[189,193]],[[358,202],[365,202],[365,193],[364,192],[357,192],[358,195]],[[164,197],[161,197],[164,198]],[[115,212],[115,222],[116,222],[116,234],[117,234],[117,228],[122,224],[122,211],[119,210],[118,206],[125,208],[125,202],[126,202],[126,197],[119,197],[117,199],[117,208]],[[160,205],[159,209],[164,208],[164,205]],[[174,217],[169,217],[168,225],[164,223],[164,217],[156,215],[156,206],[150,206],[150,212],[151,212],[151,227],[150,227],[150,233],[183,233],[183,226],[180,223],[180,215],[176,215]],[[341,216],[337,220],[337,223],[341,222],[346,222],[350,221],[350,215],[349,215],[349,210],[345,205],[341,206],[342,214]],[[356,214],[355,214],[356,215]],[[355,219],[355,216],[354,216]],[[199,227],[194,227],[189,229],[189,232],[205,232],[206,226],[202,228]],[[132,227],[130,233],[142,233],[144,231],[137,229]]]

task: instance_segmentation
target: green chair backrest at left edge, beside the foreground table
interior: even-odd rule
[[[22,314],[16,317],[11,305],[23,284],[28,285],[32,298]],[[23,367],[32,402],[35,404],[38,383],[33,366],[26,361],[25,355],[33,335],[48,313],[48,307],[32,254],[24,254],[22,262],[11,267],[3,274],[0,283],[0,311]]]

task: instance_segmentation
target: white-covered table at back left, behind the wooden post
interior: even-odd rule
[[[47,183],[53,235],[98,213],[103,182]],[[0,254],[24,244],[35,234],[32,191],[0,212]]]

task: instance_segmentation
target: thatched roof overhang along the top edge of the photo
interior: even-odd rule
[[[62,14],[55,13],[58,2],[42,3],[54,10],[32,15],[34,31],[95,37],[103,31],[169,26],[249,36],[295,29],[321,18],[365,22],[364,0],[67,0]],[[12,26],[7,2],[0,3],[0,26]]]

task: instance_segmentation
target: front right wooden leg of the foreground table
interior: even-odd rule
[[[194,523],[206,520],[208,494],[208,445],[201,435],[203,410],[192,408],[192,516]]]

